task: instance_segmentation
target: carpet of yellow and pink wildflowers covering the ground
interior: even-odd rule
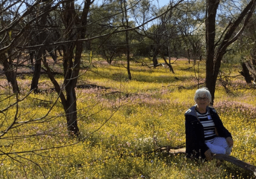
[[[101,87],[76,89],[79,139],[69,137],[54,91],[28,94],[32,76],[20,75],[16,96],[2,74],[0,178],[255,178],[228,162],[195,162],[157,150],[185,147],[184,113],[195,104],[198,84],[204,86],[204,65],[177,60],[172,74],[166,66],[132,62],[129,81],[120,61],[95,62],[78,83]],[[239,68],[223,64],[222,71],[237,76]],[[39,89],[52,87],[42,75]],[[227,87],[229,93],[218,81],[214,107],[232,133],[231,155],[256,165],[256,91],[241,76],[229,78]]]

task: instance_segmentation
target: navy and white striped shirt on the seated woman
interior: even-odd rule
[[[197,111],[197,116],[200,120],[200,123],[204,127],[205,142],[212,142],[217,136],[215,134],[215,124],[214,121],[211,119],[210,114],[208,113],[208,111],[204,114],[201,114]]]

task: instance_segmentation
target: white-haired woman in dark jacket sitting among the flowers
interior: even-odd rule
[[[211,95],[207,88],[196,91],[196,105],[185,113],[186,155],[188,158],[210,160],[214,153],[230,154],[231,133],[223,126],[216,110],[209,107]]]

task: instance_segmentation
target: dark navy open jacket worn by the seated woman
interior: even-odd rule
[[[219,137],[232,137],[231,133],[223,126],[223,123],[212,107],[206,110],[215,123],[216,135]],[[205,159],[204,152],[209,148],[205,144],[203,125],[200,123],[196,114],[196,105],[190,107],[185,113],[185,132],[186,132],[186,156],[188,158]]]

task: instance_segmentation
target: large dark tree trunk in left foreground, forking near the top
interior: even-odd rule
[[[84,1],[84,8],[81,14],[81,18],[79,18],[76,14],[74,1],[63,2],[64,11],[62,17],[63,23],[65,24],[66,38],[68,41],[73,40],[74,34],[76,34],[76,39],[81,39],[85,37],[87,17],[92,2],[93,1],[91,0]],[[66,99],[62,95],[61,103],[63,105],[63,108],[65,109],[67,127],[72,136],[80,135],[77,124],[77,101],[75,87],[77,84],[77,78],[80,71],[80,60],[83,50],[82,44],[83,42],[81,41],[75,41],[66,43],[63,46],[63,71],[65,78],[64,84],[66,91]],[[58,84],[56,84],[56,87],[58,87]]]

